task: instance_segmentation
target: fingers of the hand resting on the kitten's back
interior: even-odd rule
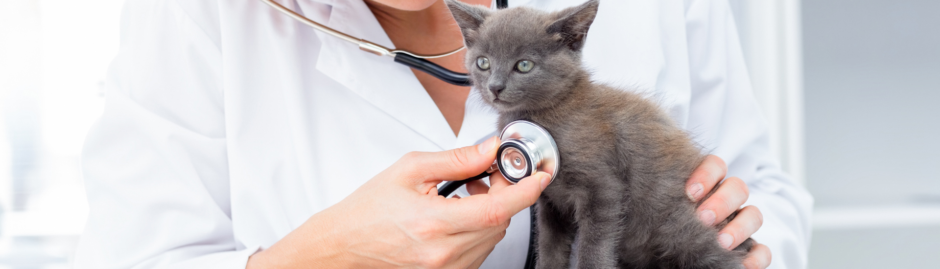
[[[685,184],[686,193],[693,201],[701,200],[714,187],[718,189],[711,197],[705,199],[697,209],[698,218],[707,225],[714,226],[725,220],[730,214],[738,211],[747,200],[747,184],[741,179],[725,179],[728,166],[718,156],[708,155],[705,161],[692,172],[689,181]],[[724,229],[718,231],[718,243],[727,249],[741,245],[747,238],[763,224],[763,215],[755,206],[746,206],[738,212]],[[771,254],[767,245],[755,244],[744,258],[744,268],[759,269],[770,265]]]

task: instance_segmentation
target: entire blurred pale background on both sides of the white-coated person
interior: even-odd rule
[[[69,268],[122,0],[0,1],[0,268]],[[729,0],[809,268],[940,264],[940,1]]]

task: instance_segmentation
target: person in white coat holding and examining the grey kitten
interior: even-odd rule
[[[387,47],[462,46],[440,0],[278,2]],[[435,194],[493,163],[495,114],[469,87],[257,0],[129,0],[121,24],[83,154],[90,214],[75,268],[525,266],[527,207],[547,174]],[[462,60],[433,59],[456,71]],[[702,221],[747,205],[718,244],[757,240],[747,268],[806,266],[812,198],[769,150],[727,1],[602,1],[584,60],[595,79],[648,88],[712,150],[688,181],[694,200],[717,188]]]

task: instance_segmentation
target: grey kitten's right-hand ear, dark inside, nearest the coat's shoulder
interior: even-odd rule
[[[548,26],[548,33],[574,51],[581,51],[587,38],[587,29],[597,16],[599,0],[589,0],[581,6],[558,11],[557,20]]]

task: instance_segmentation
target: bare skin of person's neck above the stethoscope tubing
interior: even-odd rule
[[[470,4],[490,6],[491,0],[462,0]],[[366,5],[382,24],[396,49],[420,55],[438,55],[463,45],[461,29],[450,15],[444,1],[421,10],[401,10],[370,0]]]

